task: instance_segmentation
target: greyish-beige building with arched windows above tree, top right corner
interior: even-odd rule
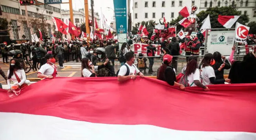
[[[199,11],[216,6],[232,6],[241,14],[248,14],[250,21],[256,21],[256,0],[201,0]]]

